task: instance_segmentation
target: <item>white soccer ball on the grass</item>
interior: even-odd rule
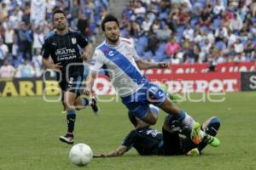
[[[92,159],[93,153],[87,144],[75,144],[69,151],[69,159],[77,166],[84,166]]]

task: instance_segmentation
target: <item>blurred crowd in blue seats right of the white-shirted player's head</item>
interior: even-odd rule
[[[256,58],[256,1],[130,0],[123,37],[143,59],[172,64]]]

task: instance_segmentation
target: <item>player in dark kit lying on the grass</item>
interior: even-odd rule
[[[159,111],[154,105],[150,105],[150,109],[153,112]],[[166,116],[162,132],[149,127],[150,125],[148,123],[138,119],[131,112],[129,112],[129,119],[135,129],[131,130],[125,137],[118,149],[108,153],[96,154],[94,157],[123,156],[132,147],[141,156],[199,156],[207,144],[213,147],[218,147],[219,145],[219,140],[213,137],[216,136],[220,127],[220,122],[215,116],[212,116],[202,124],[201,130],[207,133],[207,135],[202,139],[200,144],[194,144],[190,138],[186,138],[183,135],[188,133],[188,128],[183,128],[181,122],[172,115]]]

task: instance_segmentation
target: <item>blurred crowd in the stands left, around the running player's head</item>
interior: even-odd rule
[[[52,11],[62,8],[69,27],[95,42],[96,28],[107,14],[108,0],[45,0],[43,23],[32,23],[31,0],[0,0],[0,78],[41,77],[41,48],[53,31]]]

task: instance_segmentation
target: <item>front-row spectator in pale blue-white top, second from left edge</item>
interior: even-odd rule
[[[29,78],[29,77],[34,77],[35,71],[27,61],[27,59],[24,59],[23,64],[19,65],[17,68],[17,72],[15,77],[18,78]]]

